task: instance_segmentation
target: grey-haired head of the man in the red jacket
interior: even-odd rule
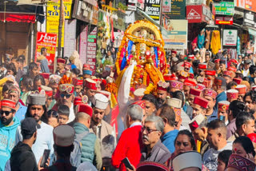
[[[136,122],[142,122],[143,109],[140,105],[129,105],[126,114],[126,126],[130,128]]]

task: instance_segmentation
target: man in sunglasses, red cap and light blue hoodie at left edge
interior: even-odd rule
[[[0,111],[0,170],[5,170],[6,161],[10,158],[10,152],[14,148],[15,135],[20,121],[15,116],[15,101],[3,99]],[[7,143],[8,142],[8,143]]]

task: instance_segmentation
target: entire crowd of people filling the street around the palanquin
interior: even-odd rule
[[[172,50],[165,82],[125,111],[114,68],[94,76],[74,52],[51,74],[45,54],[0,68],[0,171],[256,169],[254,54]]]

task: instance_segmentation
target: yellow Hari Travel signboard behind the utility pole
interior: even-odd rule
[[[72,0],[63,0],[63,10],[65,19],[71,18],[71,5]],[[59,25],[59,16],[60,16],[60,1],[47,2],[47,11],[46,11],[46,33],[58,34],[58,25]],[[62,47],[64,47],[64,20],[62,22]],[[58,42],[58,40],[57,40]],[[58,46],[58,44],[57,44]]]

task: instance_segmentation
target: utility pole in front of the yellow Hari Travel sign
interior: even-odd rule
[[[63,26],[63,0],[60,0],[59,23],[58,23],[58,58],[62,57],[62,26]],[[56,72],[57,58],[54,60],[54,73]]]

